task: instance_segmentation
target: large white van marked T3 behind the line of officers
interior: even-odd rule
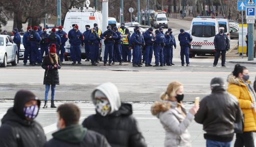
[[[63,30],[66,33],[73,28],[72,24],[77,24],[81,33],[86,31],[85,25],[90,25],[91,28],[93,28],[95,23],[98,25],[99,29],[102,29],[102,13],[95,8],[89,7],[89,0],[86,0],[85,4],[87,5],[86,7],[84,5],[84,7],[71,8],[66,13],[63,25]],[[66,42],[65,47],[64,60],[68,61],[70,59],[70,44],[68,41]],[[84,47],[81,47],[81,52],[81,58],[85,59]]]

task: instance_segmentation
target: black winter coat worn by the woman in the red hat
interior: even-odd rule
[[[58,69],[61,69],[62,66],[61,66],[61,59],[59,56],[58,56],[58,63],[59,63],[58,68],[48,69],[48,66],[54,66],[56,62],[52,64],[49,55],[46,55],[44,57],[43,63],[42,63],[42,68],[45,69],[43,84],[60,85]]]

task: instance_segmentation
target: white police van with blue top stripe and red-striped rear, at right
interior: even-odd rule
[[[193,18],[190,28],[192,42],[190,58],[196,55],[215,54],[214,37],[219,33],[216,18]]]

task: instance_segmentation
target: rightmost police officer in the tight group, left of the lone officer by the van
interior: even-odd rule
[[[169,31],[165,32],[164,36],[164,47],[163,47],[163,56],[164,56],[164,65],[165,63],[167,66],[172,66],[172,51],[173,45],[176,48],[175,38],[172,34],[169,34]]]

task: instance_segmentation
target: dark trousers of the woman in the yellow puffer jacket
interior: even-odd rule
[[[254,147],[253,132],[243,132],[242,134],[236,134],[234,147]]]

